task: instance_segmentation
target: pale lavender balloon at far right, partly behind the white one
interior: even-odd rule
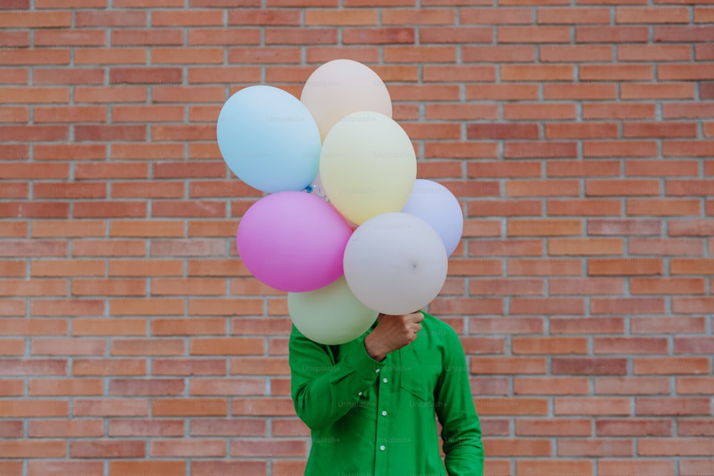
[[[463,233],[463,211],[453,193],[441,183],[417,178],[402,212],[431,225],[441,237],[447,256],[456,250]]]

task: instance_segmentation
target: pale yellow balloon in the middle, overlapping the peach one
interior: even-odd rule
[[[352,113],[325,138],[320,177],[337,211],[360,225],[406,205],[416,182],[416,153],[396,121],[374,111]]]

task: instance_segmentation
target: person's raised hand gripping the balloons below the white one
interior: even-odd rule
[[[364,339],[364,348],[371,358],[381,362],[392,350],[414,342],[424,316],[421,313],[380,314],[377,319],[377,327]]]

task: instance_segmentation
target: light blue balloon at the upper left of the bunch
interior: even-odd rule
[[[273,86],[248,86],[228,98],[216,125],[228,168],[259,191],[301,191],[319,171],[320,131],[298,98]]]

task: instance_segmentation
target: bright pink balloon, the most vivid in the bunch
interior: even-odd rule
[[[333,206],[311,193],[271,193],[248,208],[238,224],[238,253],[261,282],[306,293],[343,275],[352,235]]]

